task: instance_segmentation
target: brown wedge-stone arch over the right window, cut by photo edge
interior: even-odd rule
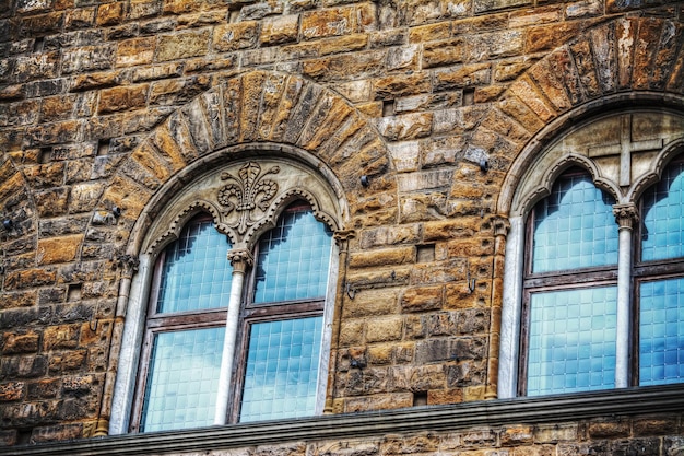
[[[474,131],[471,148],[504,173],[497,212],[555,133],[608,108],[684,107],[684,25],[621,17],[588,30],[518,78]],[[653,46],[653,43],[657,45]]]

